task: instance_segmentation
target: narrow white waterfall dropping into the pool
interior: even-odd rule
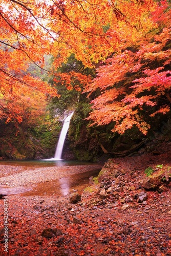
[[[63,127],[62,127],[62,130],[60,132],[58,144],[57,144],[57,147],[56,147],[54,160],[61,160],[63,144],[65,142],[66,135],[67,135],[67,132],[68,132],[68,129],[69,129],[69,126],[70,126],[70,120],[71,120],[71,117],[72,117],[73,114],[74,114],[74,112],[72,112],[71,115],[69,115],[63,123]]]

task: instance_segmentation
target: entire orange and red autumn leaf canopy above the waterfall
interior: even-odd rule
[[[169,2],[0,0],[0,117],[22,122],[39,111],[45,97],[57,96],[48,83],[28,73],[30,63],[44,71],[45,54],[54,57],[47,71],[69,90],[94,98],[92,125],[113,123],[124,133],[136,125],[146,134],[145,116],[170,110]],[[71,54],[96,77],[58,74]],[[40,103],[41,99],[41,103]],[[36,104],[36,102],[39,102]],[[39,106],[39,107],[38,107]]]

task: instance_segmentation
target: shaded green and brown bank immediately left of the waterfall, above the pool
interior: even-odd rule
[[[61,123],[57,119],[51,120],[48,113],[36,119],[32,126],[27,122],[19,124],[17,131],[12,122],[0,123],[0,157],[10,159],[53,157]]]

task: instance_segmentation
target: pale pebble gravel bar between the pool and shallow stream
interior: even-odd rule
[[[23,169],[20,166],[0,165],[0,185],[10,187],[31,186],[71,175],[100,169],[101,165],[72,165]],[[1,190],[0,190],[1,193]]]

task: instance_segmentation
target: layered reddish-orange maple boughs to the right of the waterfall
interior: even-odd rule
[[[163,6],[153,6],[156,9],[152,8],[150,15],[139,13],[140,19],[146,16],[146,22],[144,19],[143,26],[137,28],[137,38],[134,30],[127,27],[120,49],[97,69],[97,77],[86,87],[85,92],[90,94],[97,89],[101,91],[92,101],[93,111],[88,118],[92,125],[113,123],[112,131],[120,134],[136,125],[146,134],[149,124],[144,121],[145,109],[151,110],[151,116],[170,110],[171,51],[167,27],[170,11],[165,10],[166,2]],[[163,12],[165,19],[162,18],[161,27],[156,15],[160,13],[164,17]]]

